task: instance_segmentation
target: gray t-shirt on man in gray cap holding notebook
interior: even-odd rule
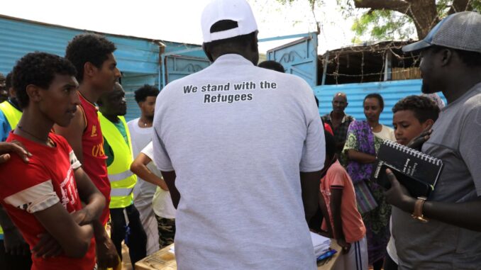
[[[443,108],[423,152],[443,160],[430,201],[461,203],[481,196],[481,84]],[[480,209],[481,211],[481,209]],[[481,232],[392,208],[400,269],[481,269]]]

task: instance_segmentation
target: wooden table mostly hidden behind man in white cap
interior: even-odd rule
[[[137,261],[137,270],[177,270],[177,262],[175,261],[175,255],[170,252],[170,248],[173,246],[164,247],[158,252],[151,254],[144,259]],[[318,270],[330,270],[336,265],[336,261],[341,256],[341,247],[339,247],[336,240],[332,240],[331,249],[336,249],[338,252],[328,259],[327,261],[321,261],[317,264]]]

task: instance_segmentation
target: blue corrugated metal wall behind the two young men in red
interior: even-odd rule
[[[10,72],[16,61],[28,52],[43,51],[63,56],[67,43],[84,32],[87,31],[0,17],[0,72]],[[159,85],[160,45],[155,40],[105,36],[117,47],[114,55],[123,74],[122,84],[128,101],[126,118],[136,118],[140,111],[133,99],[133,91],[143,84]]]

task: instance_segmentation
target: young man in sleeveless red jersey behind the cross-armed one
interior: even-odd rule
[[[55,125],[55,133],[65,137],[72,145],[85,172],[106,198],[106,206],[99,223],[94,223],[96,253],[101,267],[116,266],[118,254],[104,227],[109,220],[111,188],[107,175],[104,140],[94,103],[101,94],[112,91],[116,81],[121,77],[113,54],[115,50],[114,43],[100,35],[81,34],[70,41],[65,58],[77,69],[80,104],[70,125],[67,127]]]

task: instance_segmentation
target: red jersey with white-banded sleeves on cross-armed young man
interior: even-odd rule
[[[82,209],[74,179],[74,169],[80,167],[80,163],[64,137],[53,133],[49,137],[56,147],[40,145],[11,132],[6,141],[18,140],[33,155],[28,164],[12,154],[9,162],[0,165],[0,203],[31,248],[39,241],[37,235],[47,232],[33,213],[59,202],[69,213]],[[33,270],[65,269],[66,266],[69,270],[92,270],[95,266],[94,238],[81,259],[63,254],[43,259],[32,254],[32,261]]]

